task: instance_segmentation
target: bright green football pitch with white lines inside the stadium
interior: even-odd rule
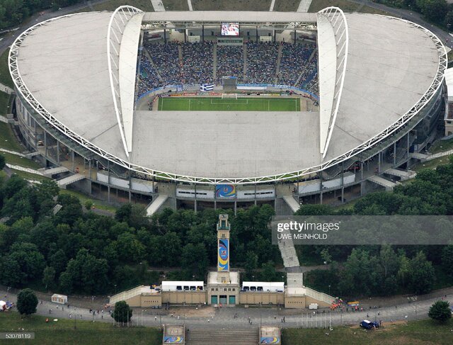
[[[159,111],[300,111],[300,98],[161,97]]]

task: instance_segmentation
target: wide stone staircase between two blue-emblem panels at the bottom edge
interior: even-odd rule
[[[188,345],[255,345],[258,344],[258,329],[190,329],[186,340]]]

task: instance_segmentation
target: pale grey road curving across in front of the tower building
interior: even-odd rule
[[[340,325],[358,325],[363,319],[370,319],[372,321],[382,321],[384,327],[389,322],[405,322],[415,319],[425,319],[428,317],[428,310],[433,302],[436,300],[447,300],[450,304],[453,302],[452,289],[448,289],[449,294],[447,297],[429,297],[417,302],[405,302],[398,305],[386,305],[377,307],[376,309],[369,309],[368,305],[364,305],[363,311],[346,312],[335,310],[285,310],[284,308],[278,309],[273,307],[224,307],[215,309],[214,307],[172,307],[170,310],[154,310],[150,308],[134,308],[134,317],[132,318],[131,325],[133,326],[147,326],[147,327],[160,327],[161,324],[183,324],[189,329],[228,329],[234,331],[235,329],[251,329],[258,328],[260,324],[274,325],[278,327],[303,327],[303,328],[322,328],[338,327]],[[0,290],[1,299],[16,302],[17,295],[7,293],[5,290]],[[423,296],[420,296],[423,298]],[[40,300],[38,303],[38,315],[49,317],[50,319],[64,318],[77,320],[93,320],[95,322],[113,322],[108,310],[104,312],[90,313],[87,307],[76,306],[76,302],[72,304],[69,298],[70,307],[57,305],[49,300]],[[87,302],[84,302],[86,306]],[[101,308],[99,303],[94,302],[93,307]],[[372,304],[370,304],[372,305]],[[50,312],[52,310],[52,312]],[[235,317],[236,315],[236,317]],[[252,324],[249,324],[248,318],[250,317]],[[285,323],[282,323],[282,317],[285,317]]]

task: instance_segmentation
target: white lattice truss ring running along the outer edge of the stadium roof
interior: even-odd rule
[[[415,26],[416,28],[419,28],[422,30],[426,35],[428,35],[433,43],[435,43],[437,52],[439,54],[439,64],[437,66],[437,73],[435,78],[433,79],[430,87],[428,90],[423,94],[423,96],[420,97],[419,101],[415,103],[415,105],[407,111],[396,123],[393,125],[389,126],[389,128],[386,128],[382,132],[380,132],[378,135],[375,135],[371,139],[367,140],[366,142],[363,142],[361,145],[355,147],[354,149],[350,149],[350,151],[346,152],[345,154],[341,154],[340,156],[330,159],[328,162],[324,162],[322,164],[319,164],[317,166],[311,166],[305,169],[301,169],[298,171],[292,171],[292,172],[284,172],[282,174],[274,174],[272,176],[256,176],[256,177],[243,177],[243,178],[210,178],[210,177],[195,177],[195,176],[184,176],[180,174],[174,174],[174,173],[168,173],[164,171],[156,171],[154,169],[149,169],[144,166],[138,166],[136,164],[131,164],[130,162],[125,161],[124,159],[118,158],[113,154],[110,154],[109,152],[106,152],[104,149],[101,149],[100,147],[93,145],[90,141],[86,140],[84,137],[81,137],[80,135],[77,135],[75,132],[73,132],[70,128],[67,128],[66,125],[61,123],[57,118],[55,118],[54,115],[52,115],[49,111],[47,111],[46,108],[44,108],[40,102],[34,98],[33,94],[30,92],[28,87],[25,85],[23,82],[21,73],[18,70],[18,50],[21,47],[21,43],[23,43],[23,40],[32,33],[35,28],[38,28],[40,26],[43,26],[51,21],[58,20],[59,18],[64,18],[64,17],[69,17],[69,16],[80,16],[83,15],[84,13],[74,13],[74,14],[69,14],[66,16],[59,16],[57,18],[52,18],[47,21],[43,21],[41,23],[35,24],[35,26],[31,26],[27,30],[25,30],[21,35],[16,38],[16,40],[13,42],[11,45],[11,50],[8,55],[8,67],[9,71],[11,73],[11,77],[13,78],[13,82],[16,86],[16,90],[18,91],[18,94],[23,97],[30,106],[38,113],[42,118],[44,118],[47,123],[50,123],[56,130],[62,133],[62,135],[65,135],[69,137],[71,140],[76,142],[77,144],[81,145],[82,147],[85,147],[86,149],[89,149],[91,152],[98,154],[100,157],[103,157],[105,159],[110,160],[110,162],[114,162],[115,164],[118,164],[125,169],[130,169],[132,171],[136,171],[142,174],[148,174],[149,176],[155,176],[156,178],[159,179],[168,179],[168,180],[173,180],[173,181],[185,181],[185,182],[193,182],[193,183],[205,183],[205,184],[217,184],[217,183],[232,183],[232,184],[248,184],[248,183],[270,183],[270,182],[276,182],[276,181],[282,181],[282,180],[287,180],[287,179],[294,179],[294,178],[299,178],[301,176],[305,176],[306,174],[311,174],[314,172],[319,172],[324,169],[327,169],[328,167],[334,166],[336,164],[339,164],[347,159],[350,159],[351,157],[354,157],[357,154],[360,154],[361,152],[365,151],[366,149],[369,149],[376,145],[377,143],[381,142],[384,140],[386,137],[391,135],[393,132],[396,130],[399,130],[402,128],[406,123],[408,123],[409,120],[411,120],[415,115],[418,114],[420,110],[423,109],[423,107],[432,99],[432,97],[437,94],[437,91],[442,87],[442,83],[445,78],[445,69],[447,69],[447,52],[445,50],[444,45],[442,42],[437,38],[437,36],[432,33],[430,30],[424,28],[423,26],[419,26],[418,24],[412,23],[411,21],[406,21],[403,19],[399,18],[394,18],[394,17],[389,17],[389,16],[384,16],[384,17],[389,17],[393,18],[395,20],[399,21],[404,21],[408,23],[411,26]],[[375,15],[379,16],[379,15]]]

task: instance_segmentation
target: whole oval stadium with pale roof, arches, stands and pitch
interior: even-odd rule
[[[412,174],[445,107],[445,47],[409,21],[121,6],[11,46],[18,129],[63,188],[111,203],[343,203]]]

